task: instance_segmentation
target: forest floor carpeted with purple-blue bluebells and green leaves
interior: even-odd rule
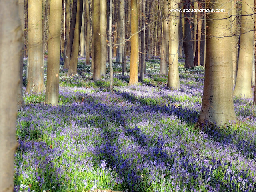
[[[110,94],[109,76],[93,82],[85,63],[78,59],[72,77],[60,66],[59,106],[44,104],[44,93],[24,94],[16,192],[256,191],[252,99],[234,98],[236,122],[198,130],[204,68],[186,70],[180,59],[180,88],[171,91],[159,59],[146,62],[146,77],[134,86],[114,63]]]

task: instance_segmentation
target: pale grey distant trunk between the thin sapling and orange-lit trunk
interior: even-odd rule
[[[116,50],[116,62],[121,63],[123,60],[123,22],[124,22],[124,0],[118,0],[118,22],[117,22],[117,50]]]

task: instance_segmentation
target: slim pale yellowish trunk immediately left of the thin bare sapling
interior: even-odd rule
[[[101,75],[106,77],[106,0],[100,0]]]

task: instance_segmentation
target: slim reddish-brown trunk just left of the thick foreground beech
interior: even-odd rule
[[[198,9],[202,9],[202,4],[198,1]],[[196,28],[196,52],[194,59],[194,66],[200,66],[200,46],[201,46],[201,33],[202,33],[202,12],[197,13],[197,28]]]

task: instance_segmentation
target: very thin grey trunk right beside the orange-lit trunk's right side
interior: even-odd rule
[[[145,0],[142,0],[142,20],[141,20],[141,69],[140,69],[140,80],[144,80],[144,66],[145,66]]]

